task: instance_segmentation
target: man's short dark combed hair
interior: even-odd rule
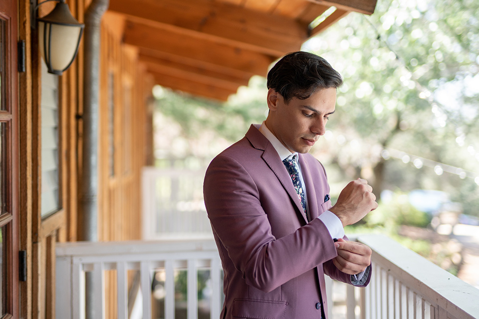
[[[338,88],[341,75],[322,57],[298,51],[286,54],[268,72],[268,89],[281,94],[288,103],[293,97],[304,100],[314,92]]]

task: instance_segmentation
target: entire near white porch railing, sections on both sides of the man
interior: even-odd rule
[[[330,318],[474,319],[479,290],[383,235],[362,235],[373,250],[373,277],[366,289],[329,283]],[[85,272],[95,278],[97,318],[105,318],[105,273],[116,271],[116,309],[128,314],[128,271],[139,271],[141,317],[152,318],[154,274],[164,277],[164,317],[175,318],[175,275],[187,272],[187,318],[198,318],[198,272],[210,271],[210,318],[220,317],[221,262],[213,240],[59,243],[56,249],[56,318],[85,317]],[[335,294],[345,289],[345,294]],[[340,298],[335,298],[340,296]],[[333,317],[334,316],[334,317]],[[177,317],[178,319],[178,317]]]

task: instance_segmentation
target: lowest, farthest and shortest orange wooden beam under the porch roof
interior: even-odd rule
[[[231,91],[223,88],[218,88],[213,85],[208,85],[195,81],[187,81],[182,78],[174,77],[159,72],[151,72],[155,78],[155,84],[171,88],[173,90],[183,91],[196,96],[202,96],[218,101],[227,101],[231,94],[236,91]]]

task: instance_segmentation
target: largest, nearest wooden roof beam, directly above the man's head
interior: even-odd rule
[[[307,23],[230,3],[208,0],[110,1],[109,11],[154,23],[204,40],[280,57],[299,50],[307,39]],[[133,18],[132,18],[133,17]],[[151,25],[154,25],[151,24]]]

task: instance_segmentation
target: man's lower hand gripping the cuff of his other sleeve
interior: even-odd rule
[[[338,256],[333,259],[333,264],[343,273],[356,275],[371,265],[371,248],[355,242],[339,238],[334,244]]]

